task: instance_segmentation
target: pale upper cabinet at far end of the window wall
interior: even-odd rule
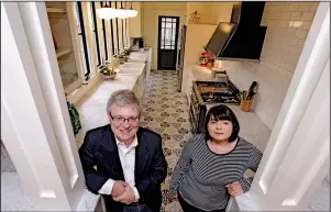
[[[132,9],[137,11],[137,15],[129,19],[130,37],[141,37],[143,34],[142,2],[132,2]]]

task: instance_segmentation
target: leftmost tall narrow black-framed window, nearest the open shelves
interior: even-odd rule
[[[85,80],[89,80],[90,78],[90,65],[89,65],[89,57],[87,51],[87,43],[86,43],[86,33],[84,26],[84,19],[82,19],[82,10],[81,10],[81,2],[76,2],[76,12],[77,12],[77,27],[78,27],[78,37],[80,44],[80,51],[82,55],[82,66],[84,66],[84,76]]]

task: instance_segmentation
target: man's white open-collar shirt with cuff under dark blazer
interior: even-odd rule
[[[133,189],[135,199],[139,200],[140,194],[137,192],[134,181],[135,147],[137,146],[137,138],[136,136],[134,136],[132,144],[128,148],[125,144],[121,143],[117,137],[115,141],[119,149],[118,152],[123,168],[125,182],[130,185],[130,187]],[[101,194],[110,194],[114,181],[115,180],[109,178],[98,192]]]

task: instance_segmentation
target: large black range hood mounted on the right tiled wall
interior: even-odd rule
[[[221,22],[206,48],[218,59],[255,60],[260,56],[266,33],[261,26],[265,2],[244,1],[233,4],[231,22]]]

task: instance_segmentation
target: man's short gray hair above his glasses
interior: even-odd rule
[[[126,107],[135,104],[139,110],[139,115],[141,115],[141,108],[139,100],[133,91],[129,89],[118,90],[113,92],[107,103],[107,113],[111,113],[111,105],[118,104],[119,107]]]

